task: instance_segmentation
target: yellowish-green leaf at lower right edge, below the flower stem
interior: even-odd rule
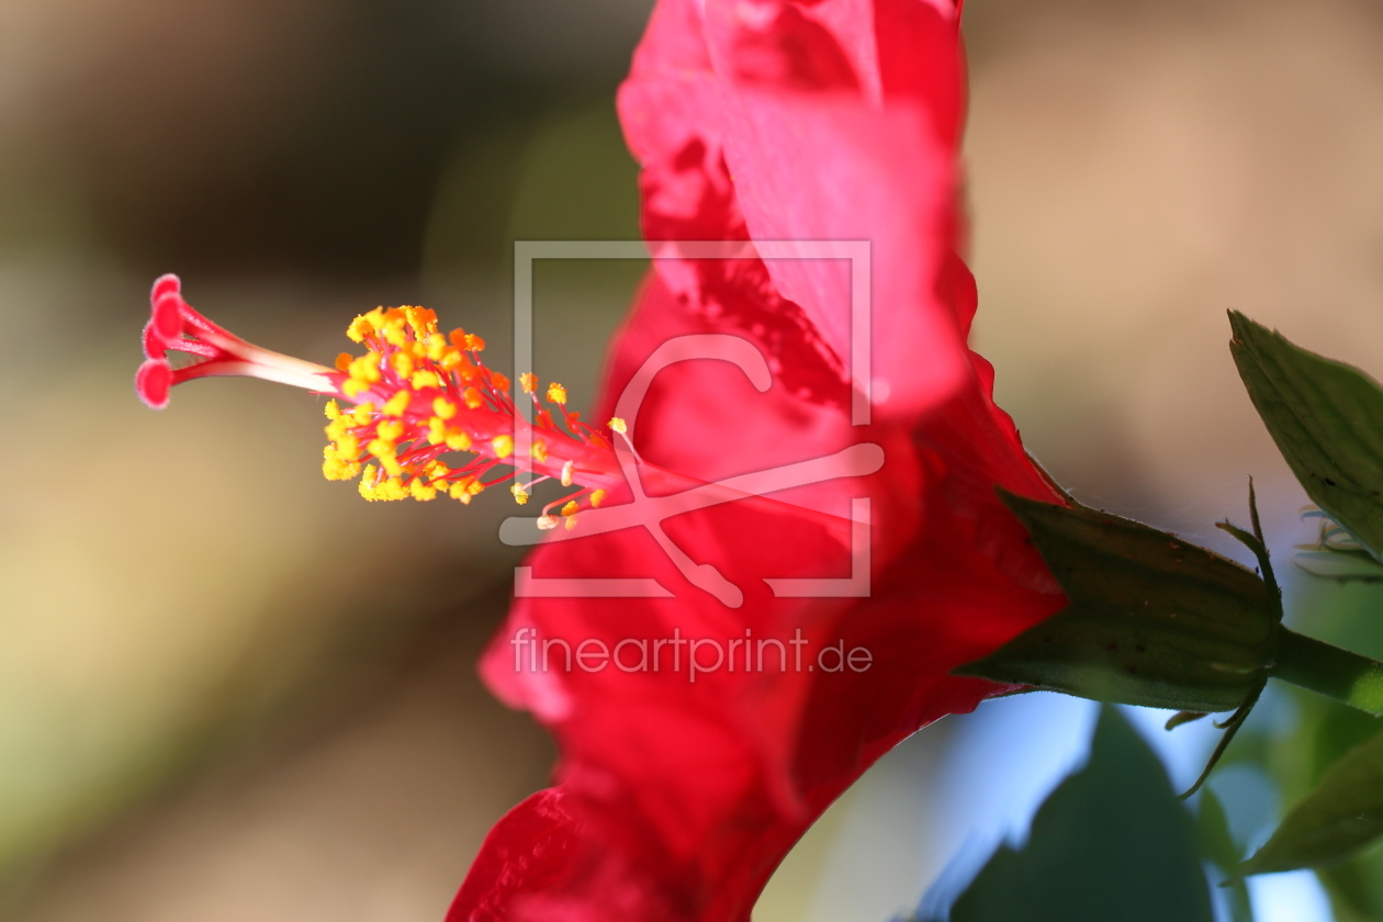
[[[1294,871],[1354,854],[1383,835],[1383,733],[1350,749],[1292,807],[1241,874]]]

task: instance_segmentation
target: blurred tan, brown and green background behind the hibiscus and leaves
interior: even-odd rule
[[[365,505],[318,473],[318,401],[259,382],[151,413],[137,333],[176,271],[270,348],[331,361],[357,312],[423,303],[503,355],[514,239],[638,235],[613,93],[649,7],[0,0],[0,918],[438,921],[542,787],[550,744],[474,677],[514,563],[501,498]],[[1383,7],[967,7],[1001,405],[1084,502],[1239,557],[1213,523],[1253,474],[1289,554],[1307,500],[1224,311],[1383,376]],[[539,264],[537,368],[577,406],[638,270]],[[1383,657],[1377,590],[1290,592]],[[1091,713],[1030,695],[918,734],[757,919],[881,921],[974,871]],[[1373,723],[1275,693],[1216,782],[1236,831],[1261,842]],[[1178,734],[1184,784],[1209,738]],[[1333,872],[1342,921],[1383,918],[1380,867]],[[1330,918],[1312,875],[1265,881],[1260,922]]]

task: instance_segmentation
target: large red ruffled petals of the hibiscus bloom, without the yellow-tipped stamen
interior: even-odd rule
[[[745,922],[880,755],[1001,690],[950,669],[1062,607],[994,488],[1059,496],[965,346],[963,87],[947,0],[660,0],[620,94],[644,234],[777,249],[658,260],[596,417],[665,343],[729,335],[770,380],[709,359],[643,380],[643,466],[743,484],[859,446],[882,464],[532,554],[537,581],[661,593],[519,593],[483,672],[557,737],[557,787],[494,828],[449,922]],[[794,241],[869,242],[863,326],[852,267]]]

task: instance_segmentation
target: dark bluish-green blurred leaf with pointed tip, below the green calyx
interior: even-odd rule
[[[1105,708],[1090,762],[1047,798],[1022,849],[1000,846],[950,922],[1210,922],[1195,846],[1158,756]]]

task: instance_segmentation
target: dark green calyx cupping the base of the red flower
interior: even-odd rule
[[[1000,496],[1069,604],[957,675],[1198,712],[1232,711],[1261,686],[1277,615],[1252,571],[1127,518]]]

